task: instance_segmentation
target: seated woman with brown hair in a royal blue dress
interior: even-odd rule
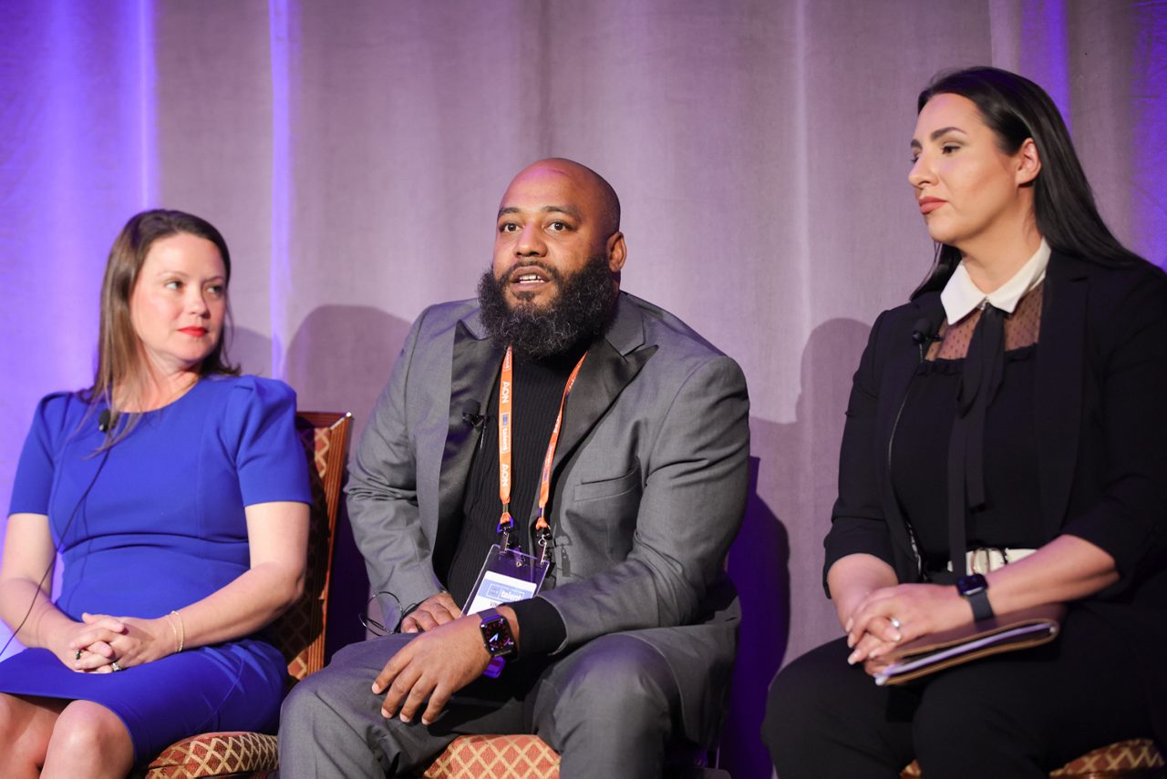
[[[295,394],[226,362],[230,274],[205,220],[133,217],[93,386],[36,409],[0,562],[28,647],[0,662],[2,777],[124,777],[184,736],[274,730],[261,631],[302,590],[310,492]]]

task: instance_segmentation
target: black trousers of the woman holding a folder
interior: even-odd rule
[[[1071,609],[1062,634],[904,687],[847,665],[845,639],[808,652],[770,686],[762,739],[780,779],[1048,777],[1083,753],[1152,736],[1145,690],[1105,622]]]

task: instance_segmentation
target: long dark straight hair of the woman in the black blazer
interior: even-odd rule
[[[1046,90],[1028,78],[999,68],[965,68],[937,73],[920,93],[916,112],[937,94],[959,94],[976,104],[1005,154],[1014,154],[1032,138],[1041,159],[1034,181],[1033,210],[1037,232],[1055,252],[1100,265],[1130,265],[1142,258],[1118,243],[1098,215],[1093,191],[1082,170],[1062,114]],[[956,246],[938,244],[928,278],[911,293],[943,289],[960,262]]]

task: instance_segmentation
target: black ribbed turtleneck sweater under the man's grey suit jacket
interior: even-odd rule
[[[539,499],[539,471],[555,424],[559,401],[572,369],[584,353],[584,348],[571,349],[541,360],[515,355],[513,413],[511,420],[511,505],[515,518],[512,541],[522,543],[523,552],[533,553],[531,528]],[[501,360],[499,360],[501,365]],[[564,417],[571,413],[571,402]],[[475,447],[470,475],[462,503],[462,525],[453,550],[438,550],[438,560],[449,560],[441,577],[450,596],[464,604],[478,578],[490,546],[498,540],[498,379],[495,378],[482,436]],[[548,520],[551,506],[548,506]],[[510,604],[519,623],[519,643],[525,655],[541,654],[557,648],[567,636],[559,612],[543,598],[518,601]]]

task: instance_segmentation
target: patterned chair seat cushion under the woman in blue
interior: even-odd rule
[[[168,746],[146,769],[146,779],[194,779],[224,773],[274,771],[275,736],[251,732],[202,734]]]

